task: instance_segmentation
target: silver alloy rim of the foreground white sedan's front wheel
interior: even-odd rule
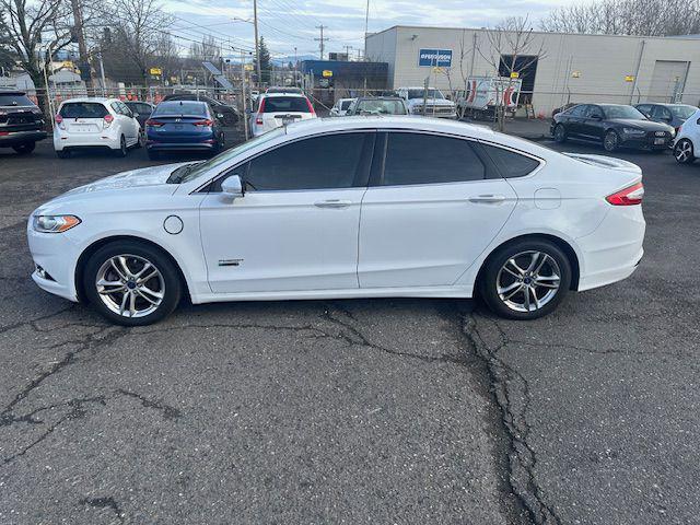
[[[144,257],[116,255],[97,270],[95,288],[104,305],[122,317],[144,317],[155,312],[165,296],[165,280]]]

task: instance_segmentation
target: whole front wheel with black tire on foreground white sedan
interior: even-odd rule
[[[144,282],[138,280],[139,271],[144,272]],[[114,284],[98,285],[100,281]],[[162,250],[138,241],[115,241],[88,259],[83,290],[95,310],[112,323],[144,326],[175,310],[183,283],[179,271]]]

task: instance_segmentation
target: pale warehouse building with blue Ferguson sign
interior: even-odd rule
[[[394,26],[368,35],[365,56],[388,62],[388,88],[421,86],[429,78],[431,86],[443,91],[463,90],[468,77],[498,73],[492,65],[498,60],[492,57],[499,49],[493,49],[490,31]],[[512,56],[506,45],[500,47],[501,55],[510,51]],[[532,44],[517,57],[526,66],[520,71],[521,103],[532,103],[540,116],[567,103],[700,102],[700,38],[696,35],[533,32]]]

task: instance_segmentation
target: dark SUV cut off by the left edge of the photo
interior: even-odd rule
[[[46,138],[42,110],[23,91],[0,90],[0,148],[31,153]]]

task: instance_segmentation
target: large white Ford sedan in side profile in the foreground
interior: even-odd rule
[[[315,119],[103,178],[28,221],[34,281],[115,323],[212,301],[471,298],[532,319],[642,257],[640,168],[420,117]]]

